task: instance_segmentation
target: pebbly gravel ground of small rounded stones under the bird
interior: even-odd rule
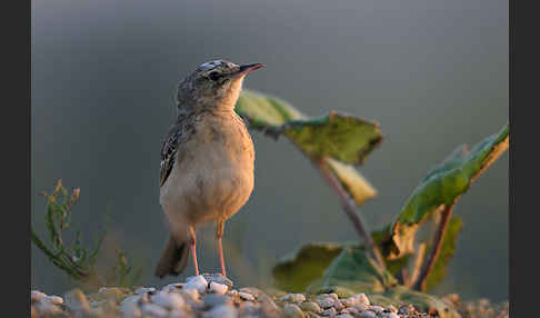
[[[339,298],[336,294],[269,294],[254,287],[234,289],[231,280],[210,274],[190,277],[187,282],[171,284],[160,289],[111,287],[88,296],[74,289],[63,297],[32,290],[31,317],[438,317],[437,314],[419,312],[411,305],[399,308],[377,306],[370,304],[369,296],[364,294],[349,298]],[[449,295],[444,300],[458,308],[462,318],[509,317],[508,304],[492,306],[486,299],[461,302],[457,295]]]

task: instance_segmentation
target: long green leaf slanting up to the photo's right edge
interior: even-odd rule
[[[470,151],[458,147],[443,162],[432,169],[414,189],[392,225],[391,259],[413,251],[419,226],[433,213],[450,207],[466,192],[471,182],[490,167],[509,145],[509,127],[504,126]]]

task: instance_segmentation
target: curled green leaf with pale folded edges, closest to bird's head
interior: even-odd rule
[[[308,119],[281,99],[249,90],[242,91],[236,110],[250,128],[274,138],[286,136],[311,160],[324,158],[358,205],[377,195],[352,166],[361,163],[382,140],[377,123],[337,112]]]

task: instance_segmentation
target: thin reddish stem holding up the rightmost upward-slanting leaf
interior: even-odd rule
[[[444,233],[447,231],[450,218],[452,217],[453,207],[456,206],[456,201],[458,199],[459,197],[456,198],[450,207],[446,207],[444,210],[442,210],[441,212],[441,220],[439,221],[439,225],[437,227],[436,236],[433,238],[433,245],[431,247],[431,250],[429,251],[428,259],[423,264],[418,279],[412,284],[412,288],[416,290],[426,291],[427,289],[429,274],[433,269],[434,262],[441,251]]]

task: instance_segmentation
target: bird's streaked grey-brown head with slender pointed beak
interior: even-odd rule
[[[178,108],[233,109],[243,78],[261,63],[238,66],[226,60],[200,64],[178,86]]]

